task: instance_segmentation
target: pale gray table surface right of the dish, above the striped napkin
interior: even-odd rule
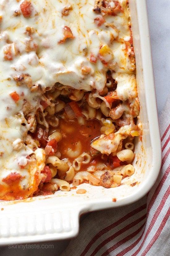
[[[170,93],[170,1],[147,0],[147,9],[156,99],[160,114]]]

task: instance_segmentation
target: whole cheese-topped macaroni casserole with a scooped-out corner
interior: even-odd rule
[[[128,0],[0,0],[0,87],[1,200],[133,175]]]

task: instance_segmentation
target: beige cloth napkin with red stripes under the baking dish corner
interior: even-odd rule
[[[162,168],[151,191],[128,206],[86,215],[62,256],[170,255],[170,95],[159,128]]]

